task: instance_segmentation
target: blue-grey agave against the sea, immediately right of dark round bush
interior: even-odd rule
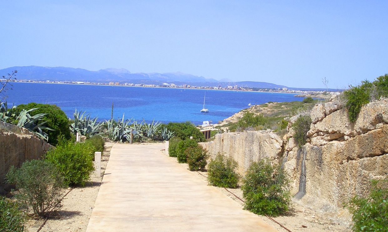
[[[70,130],[76,134],[77,132],[84,136],[97,135],[102,132],[104,122],[97,122],[98,117],[90,119],[90,114],[86,112],[74,112],[74,122],[70,125]]]

